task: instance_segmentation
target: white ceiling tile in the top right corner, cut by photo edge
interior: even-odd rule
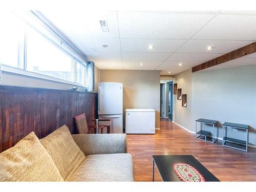
[[[256,15],[219,14],[193,39],[256,40]]]

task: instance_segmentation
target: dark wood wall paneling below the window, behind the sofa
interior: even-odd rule
[[[43,138],[66,124],[76,133],[73,117],[97,118],[97,94],[0,86],[0,152],[35,132]]]

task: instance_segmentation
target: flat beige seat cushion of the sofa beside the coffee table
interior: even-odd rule
[[[131,154],[89,155],[67,181],[134,181]]]

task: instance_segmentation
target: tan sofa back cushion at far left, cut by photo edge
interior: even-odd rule
[[[0,154],[0,181],[63,181],[34,132]]]

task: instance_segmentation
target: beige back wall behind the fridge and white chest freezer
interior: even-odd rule
[[[100,70],[100,82],[123,83],[123,112],[152,108],[156,110],[156,128],[160,127],[160,71]]]

